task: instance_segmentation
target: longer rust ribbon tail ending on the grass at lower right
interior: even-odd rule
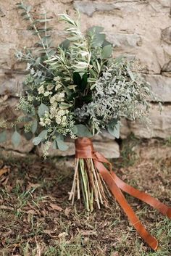
[[[141,221],[138,219],[138,217],[135,215],[135,212],[128,204],[127,200],[125,199],[124,195],[122,194],[122,191],[117,186],[117,184],[114,181],[114,178],[112,174],[107,170],[107,168],[104,167],[104,165],[99,162],[98,160],[93,160],[97,170],[99,170],[99,173],[101,174],[102,178],[104,178],[104,181],[107,183],[110,191],[112,192],[113,196],[116,198],[117,202],[122,207],[122,210],[124,210],[125,214],[128,216],[128,219],[130,220],[130,223],[133,224],[135,229],[138,231],[138,233],[141,235],[144,241],[146,241],[149,246],[157,250],[158,247],[158,241],[155,239],[154,236],[151,236],[148,231],[146,231],[146,228],[144,228]]]

